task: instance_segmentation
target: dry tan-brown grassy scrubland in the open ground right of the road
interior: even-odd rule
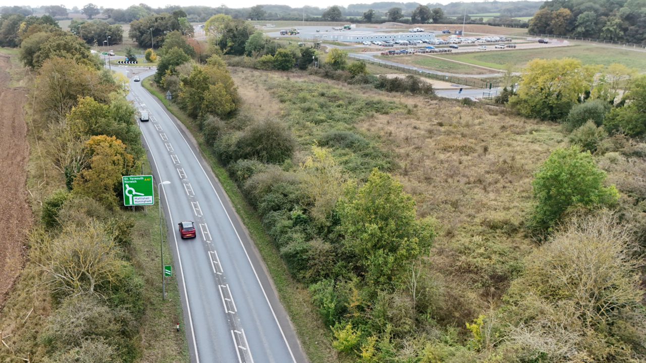
[[[447,323],[463,326],[497,305],[534,246],[522,229],[532,205],[532,173],[567,143],[558,125],[501,107],[389,94],[305,74],[234,68],[232,75],[244,107],[263,116],[281,117],[281,103],[267,87],[286,76],[400,105],[354,126],[394,156],[393,174],[414,196],[418,216],[435,220],[439,237],[429,258],[431,272],[445,286]],[[296,152],[294,163],[306,156],[307,150]]]

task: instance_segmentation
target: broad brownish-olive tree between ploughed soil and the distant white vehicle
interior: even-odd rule
[[[52,57],[38,71],[35,107],[44,118],[58,121],[72,110],[79,97],[90,96],[107,104],[114,90],[112,78],[103,78],[96,70],[73,59]]]

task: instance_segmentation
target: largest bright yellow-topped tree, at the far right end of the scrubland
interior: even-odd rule
[[[529,61],[510,105],[527,117],[563,119],[592,89],[597,70],[572,58]]]

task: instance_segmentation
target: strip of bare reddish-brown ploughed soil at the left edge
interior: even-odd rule
[[[25,122],[26,89],[9,87],[10,56],[0,54],[0,307],[25,262],[25,238],[31,226],[26,178],[29,143]]]

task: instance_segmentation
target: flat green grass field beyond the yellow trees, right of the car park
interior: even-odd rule
[[[598,45],[574,45],[572,47],[555,47],[546,51],[544,48],[505,50],[497,52],[480,52],[466,54],[438,55],[483,67],[503,69],[505,63],[515,67],[525,67],[528,61],[536,58],[559,59],[572,57],[580,59],[584,64],[611,65],[621,63],[627,67],[646,70],[646,57],[643,52],[601,47]]]

